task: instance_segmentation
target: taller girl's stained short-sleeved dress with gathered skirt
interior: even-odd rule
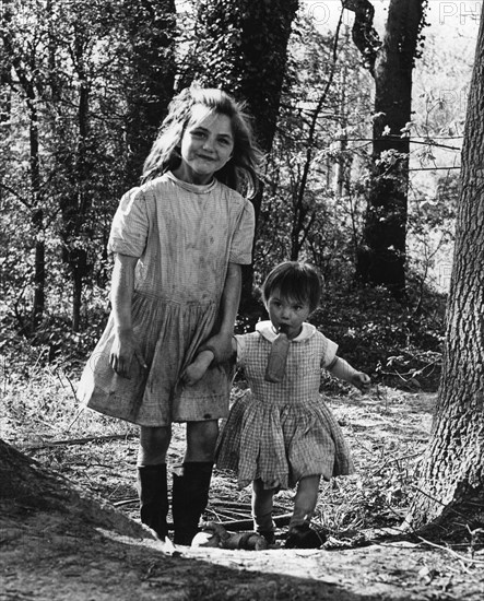
[[[130,379],[109,366],[113,315],[81,377],[88,408],[143,426],[216,420],[228,413],[228,365],[191,387],[180,373],[217,331],[228,262],[250,263],[251,203],[217,180],[196,186],[167,173],[127,192],[113,221],[109,249],[138,257],[133,332],[149,365]]]

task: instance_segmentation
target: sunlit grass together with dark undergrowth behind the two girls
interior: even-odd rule
[[[322,375],[321,389],[343,427],[357,468],[355,475],[334,479],[321,487],[315,521],[328,530],[401,522],[427,439],[422,423],[430,419],[428,408],[417,408],[414,415],[410,406],[418,404],[415,399],[421,396],[427,398],[426,391],[437,390],[444,305],[445,298],[430,293],[424,299],[409,297],[402,305],[383,290],[340,285],[326,290],[321,307],[311,316],[311,321],[339,344],[340,356],[368,373],[374,382],[371,392],[362,396]],[[265,318],[263,307],[259,307],[257,318]],[[15,332],[12,322],[5,325],[0,340],[0,437],[76,482],[122,502],[121,492],[125,497],[135,497],[129,474],[135,462],[138,431],[80,410],[75,398],[81,369],[106,320],[106,311],[98,308],[83,332],[72,333],[67,320],[47,318],[34,337]],[[238,330],[246,327],[247,319],[241,317]],[[236,380],[234,394],[243,386]],[[109,436],[114,437],[110,441],[106,439]],[[125,446],[120,446],[123,436]],[[55,446],[90,437],[101,443]],[[169,460],[178,461],[184,450],[182,427],[175,428],[172,447]],[[233,479],[215,475],[213,491],[249,507],[250,491],[238,491]],[[291,511],[292,496],[293,492],[278,495],[281,510]],[[135,515],[135,507],[128,505],[126,510]]]

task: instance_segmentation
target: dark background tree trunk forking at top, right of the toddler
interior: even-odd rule
[[[385,285],[396,297],[405,290],[409,137],[412,71],[424,26],[425,0],[390,0],[382,42],[373,27],[368,0],[343,0],[355,12],[353,40],[375,80],[371,172],[357,276]]]

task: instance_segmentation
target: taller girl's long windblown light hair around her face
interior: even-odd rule
[[[144,162],[142,184],[179,166],[181,138],[190,122],[191,108],[194,105],[205,106],[209,114],[226,115],[231,119],[234,151],[228,163],[216,173],[216,178],[229,188],[252,197],[257,191],[261,153],[253,141],[244,105],[222,90],[198,85],[186,87],[170,102],[168,115]]]

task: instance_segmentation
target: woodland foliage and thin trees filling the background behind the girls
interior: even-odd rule
[[[327,282],[315,322],[361,368],[418,385],[420,370],[435,374],[438,363],[445,290],[436,290],[433,278],[441,275],[436,261],[452,240],[455,179],[442,176],[437,192],[430,186],[425,193],[411,182],[405,300],[394,302],[383,288],[359,287],[354,275],[367,205],[374,109],[371,78],[350,27],[340,19],[326,31],[304,3],[292,23],[284,16],[284,2],[258,3],[272,11],[262,16],[271,16],[278,31],[291,27],[286,56],[281,56],[278,39],[267,44],[269,30],[248,26],[255,13],[247,2],[231,4],[229,23],[222,4],[3,2],[4,361],[28,361],[33,351],[27,347],[43,362],[75,361],[92,349],[109,309],[110,222],[121,195],[137,184],[169,98],[192,81],[243,97],[243,82],[256,80],[241,72],[240,57],[264,43],[259,64],[271,68],[263,79],[268,90],[280,86],[281,93],[272,113],[253,116],[255,126],[271,118],[274,126],[261,138],[265,162],[255,284],[281,260],[311,261]],[[294,12],[296,8],[294,3]],[[262,23],[262,16],[256,21]],[[435,93],[425,94],[409,123],[412,131],[425,130],[422,156],[410,158],[417,166],[435,164],[434,137],[458,118],[457,107],[439,108],[437,101],[432,104]],[[255,106],[249,108],[258,110]],[[240,329],[249,317],[240,316]]]

